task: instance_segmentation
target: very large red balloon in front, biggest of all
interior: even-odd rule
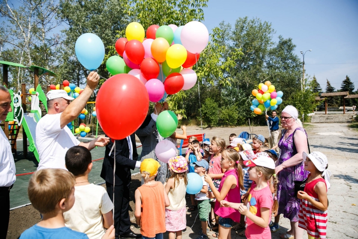
[[[142,125],[149,109],[149,96],[143,83],[136,77],[118,74],[99,88],[95,107],[98,122],[105,134],[111,139],[122,139]]]

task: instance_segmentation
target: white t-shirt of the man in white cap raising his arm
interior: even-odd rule
[[[47,114],[37,123],[36,147],[40,157],[37,170],[44,168],[66,169],[67,150],[80,144],[67,125],[61,128],[61,114]]]

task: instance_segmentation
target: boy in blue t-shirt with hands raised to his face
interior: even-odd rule
[[[200,142],[198,140],[191,141],[191,143],[189,143],[188,145],[188,148],[189,149],[187,150],[185,159],[187,160],[189,165],[189,173],[194,173],[195,172],[194,162],[200,161],[203,158],[204,154],[200,152]],[[189,209],[190,211],[195,211],[197,207],[195,203],[194,194],[190,194],[190,200],[191,200],[191,207]]]

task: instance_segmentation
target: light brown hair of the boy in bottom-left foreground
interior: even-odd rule
[[[30,178],[27,194],[37,211],[51,213],[57,203],[70,196],[75,184],[75,176],[65,169],[42,169]]]

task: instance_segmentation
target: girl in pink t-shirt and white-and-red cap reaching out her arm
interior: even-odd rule
[[[247,239],[271,238],[269,222],[271,210],[276,212],[278,203],[272,199],[272,193],[268,185],[269,179],[273,177],[275,195],[277,193],[277,177],[274,174],[275,164],[268,155],[259,155],[256,159],[244,161],[245,166],[250,167],[249,179],[253,180],[246,205],[221,201],[221,206],[238,210],[245,215]]]

